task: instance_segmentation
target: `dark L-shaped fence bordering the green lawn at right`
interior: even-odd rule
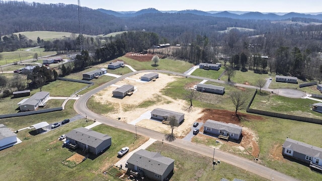
[[[257,89],[253,95],[253,98],[251,99],[250,104],[248,105],[246,111],[248,113],[254,113],[254,114],[260,114],[264,116],[270,116],[270,117],[275,117],[275,118],[282,118],[282,119],[289,119],[289,120],[295,120],[295,121],[302,121],[302,122],[308,122],[308,123],[315,123],[315,124],[322,124],[322,120],[319,119],[314,119],[314,118],[307,118],[307,117],[300,117],[300,116],[294,116],[294,115],[286,115],[286,114],[281,114],[281,113],[273,113],[273,112],[268,112],[268,111],[262,111],[262,110],[255,110],[255,109],[250,109],[255,97],[257,94]]]

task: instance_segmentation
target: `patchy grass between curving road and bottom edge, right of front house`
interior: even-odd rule
[[[163,156],[175,160],[174,174],[171,180],[267,180],[244,169],[232,166],[225,162],[215,165],[212,158],[181,149],[162,142],[154,142],[147,148],[148,151],[160,152]]]

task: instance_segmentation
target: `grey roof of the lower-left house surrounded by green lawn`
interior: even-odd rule
[[[66,137],[87,144],[94,148],[99,146],[105,140],[112,138],[109,135],[102,134],[97,131],[93,131],[91,129],[83,127],[71,130],[69,133],[66,134]]]

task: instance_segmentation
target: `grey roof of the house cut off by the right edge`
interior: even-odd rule
[[[287,138],[285,140],[283,144],[283,148],[291,148],[293,151],[297,153],[301,153],[312,157],[322,158],[322,148],[312,146],[290,138]]]

